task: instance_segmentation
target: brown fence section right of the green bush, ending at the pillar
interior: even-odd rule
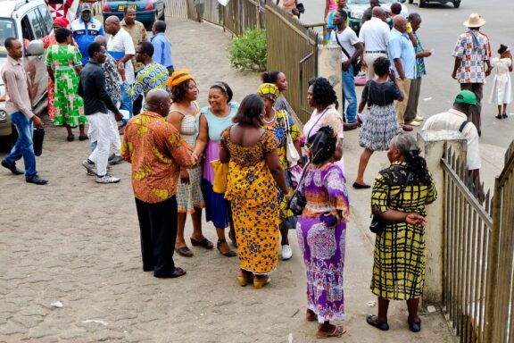
[[[268,70],[286,74],[287,101],[301,121],[311,116],[307,105],[308,81],[318,75],[318,34],[272,2],[266,4]]]

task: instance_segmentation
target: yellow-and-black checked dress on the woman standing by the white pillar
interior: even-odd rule
[[[378,173],[371,193],[371,207],[378,213],[391,209],[427,215],[425,206],[437,197],[434,182],[430,179],[426,184],[412,175],[409,185],[403,187],[408,167],[408,163],[394,162]],[[387,222],[386,229],[375,240],[374,255],[370,286],[373,294],[388,300],[421,296],[427,255],[425,227]]]

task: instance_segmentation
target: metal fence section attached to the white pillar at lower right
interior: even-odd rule
[[[452,150],[444,170],[444,306],[460,341],[482,341],[487,251],[491,236],[491,199],[485,207],[469,191],[466,163]]]

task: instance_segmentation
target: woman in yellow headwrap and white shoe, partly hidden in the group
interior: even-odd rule
[[[276,110],[274,108],[275,101],[280,95],[280,91],[275,84],[263,83],[257,90],[257,93],[262,97],[262,100],[264,100],[264,109],[266,111],[262,117],[262,128],[269,130],[271,133],[273,133],[275,138],[277,138],[278,159],[280,160],[282,168],[285,171],[287,186],[291,187],[292,180],[288,169],[289,167],[293,167],[293,165],[289,165],[287,163],[287,135],[291,136],[291,139],[294,143],[294,148],[296,149],[298,155],[301,156],[302,147],[300,146],[300,138],[302,137],[302,133],[300,130],[298,130],[298,127],[296,126],[290,113],[287,113],[286,110]],[[298,164],[300,167],[303,167],[303,159],[300,159]],[[287,207],[285,197],[282,193],[278,195],[278,202],[280,203],[280,235],[282,236],[280,245],[282,246],[282,259],[288,260],[293,255],[293,251],[289,246],[287,233],[289,232],[289,229],[296,228],[296,217]]]

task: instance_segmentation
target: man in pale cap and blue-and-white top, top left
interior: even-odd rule
[[[80,54],[82,54],[82,64],[86,65],[89,61],[87,55],[87,46],[95,40],[96,36],[105,36],[104,28],[100,21],[95,20],[91,16],[91,4],[82,4],[80,17],[71,23],[71,31],[73,38],[79,45]]]

